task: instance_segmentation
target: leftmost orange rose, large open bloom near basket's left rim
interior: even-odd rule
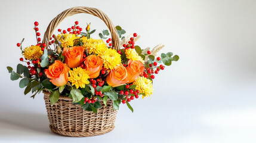
[[[69,76],[69,67],[66,64],[62,63],[59,60],[56,60],[49,69],[45,70],[45,74],[56,86],[63,86],[67,83],[67,77]]]

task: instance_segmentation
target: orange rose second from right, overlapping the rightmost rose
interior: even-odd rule
[[[124,85],[127,82],[127,70],[122,64],[118,64],[118,66],[110,70],[110,73],[107,76],[107,84],[112,87]]]

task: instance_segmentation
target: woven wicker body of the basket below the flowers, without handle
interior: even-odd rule
[[[79,104],[73,104],[69,97],[61,96],[54,105],[51,105],[50,93],[43,92],[52,132],[64,136],[96,136],[115,128],[117,111],[114,110],[111,100],[107,101],[106,106],[100,101],[101,108],[97,113],[93,113],[82,109]]]

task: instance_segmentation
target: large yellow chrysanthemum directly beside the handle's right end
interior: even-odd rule
[[[112,70],[121,63],[121,55],[115,49],[106,48],[99,55],[106,69]]]

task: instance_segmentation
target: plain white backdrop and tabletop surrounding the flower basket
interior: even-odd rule
[[[57,14],[75,6],[104,11],[127,33],[141,35],[142,48],[164,43],[162,52],[180,55],[156,76],[152,97],[132,101],[134,113],[121,105],[116,128],[90,138],[52,133],[43,94],[24,96],[6,69],[20,63],[17,42],[35,44],[34,21],[43,35]],[[107,29],[88,14],[58,28],[76,20],[84,29],[91,22],[96,33]],[[0,27],[0,142],[256,142],[256,1],[1,0]]]

